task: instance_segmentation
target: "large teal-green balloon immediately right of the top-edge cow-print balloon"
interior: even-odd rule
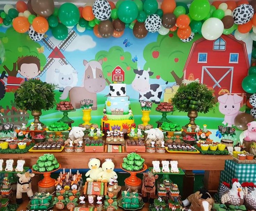
[[[131,0],[123,1],[117,9],[117,17],[124,23],[133,22],[137,18],[138,13],[137,5]]]

